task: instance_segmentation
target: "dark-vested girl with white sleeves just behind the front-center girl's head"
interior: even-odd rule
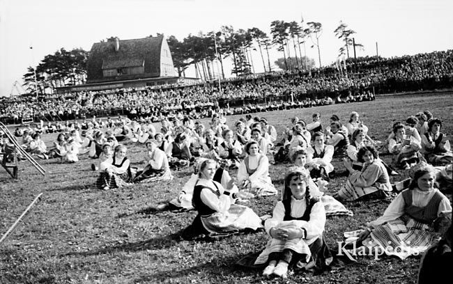
[[[334,148],[332,145],[325,145],[324,134],[315,132],[312,136],[313,145],[307,148],[307,166],[312,178],[321,178],[329,181],[329,174],[334,167],[331,164]]]

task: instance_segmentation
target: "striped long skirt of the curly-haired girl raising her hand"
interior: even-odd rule
[[[380,191],[380,192],[378,192]],[[374,184],[372,187],[355,187],[348,179],[346,184],[335,194],[335,198],[344,201],[353,201],[361,198],[362,196],[369,196],[374,194],[379,197],[385,197],[387,192],[392,191],[392,188],[387,187],[387,184]],[[377,197],[376,196],[376,197]]]

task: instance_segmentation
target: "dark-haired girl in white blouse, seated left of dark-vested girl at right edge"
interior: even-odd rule
[[[422,147],[420,142],[413,137],[406,136],[406,128],[402,123],[394,123],[393,134],[388,148],[389,152],[393,154],[394,165],[406,170],[415,166],[420,161],[418,158],[418,151]]]

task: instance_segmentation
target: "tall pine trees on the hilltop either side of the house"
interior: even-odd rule
[[[334,33],[342,42],[339,57],[349,57],[351,46],[354,50],[355,47],[363,47],[355,42],[355,31],[348,29],[344,22],[339,23]],[[255,73],[256,64],[262,64],[265,72],[272,72],[269,56],[269,50],[272,48],[282,52],[283,57],[273,62],[282,70],[307,71],[314,68],[314,59],[306,56],[307,45],[309,48],[316,47],[321,67],[322,34],[323,26],[320,22],[305,24],[303,19],[301,22],[275,20],[270,23],[269,35],[256,27],[235,30],[233,26],[222,26],[220,31],[189,34],[181,41],[175,36],[169,36],[167,42],[178,76],[185,77],[185,70],[193,65],[196,77],[208,81],[229,77],[224,70],[225,60],[232,61],[231,74],[238,77]],[[158,36],[163,35],[158,33]],[[252,52],[259,52],[260,63],[252,60]],[[45,93],[47,88],[52,90],[61,86],[83,84],[86,82],[88,56],[89,52],[82,48],[70,51],[61,48],[54,54],[45,56],[36,68],[27,69],[23,77],[24,87],[30,93],[36,93],[37,86],[38,93]]]

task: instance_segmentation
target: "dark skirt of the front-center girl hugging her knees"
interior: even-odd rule
[[[293,258],[289,263],[290,269],[293,269],[295,271],[306,270],[320,272],[324,271],[330,266],[333,257],[330,248],[328,248],[328,246],[325,244],[323,236],[318,237],[314,242],[309,244],[308,248],[310,253],[309,258],[307,258],[307,254],[305,253],[293,254]],[[266,260],[265,262],[257,262],[259,256],[263,253],[263,251],[251,253],[245,256],[245,258],[241,258],[240,260],[238,260],[238,262],[236,262],[236,265],[245,268],[263,269],[264,267],[266,267],[266,265],[268,265],[268,260]]]

